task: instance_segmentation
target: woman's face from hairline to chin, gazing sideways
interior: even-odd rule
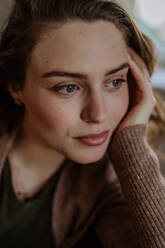
[[[34,48],[18,93],[25,134],[58,156],[98,161],[128,108],[127,72],[127,46],[113,24],[51,29]]]

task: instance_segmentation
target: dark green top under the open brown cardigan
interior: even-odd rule
[[[55,247],[51,228],[53,194],[62,168],[27,202],[14,193],[10,165],[6,160],[0,180],[0,246],[3,248]]]

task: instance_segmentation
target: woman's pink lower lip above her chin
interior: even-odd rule
[[[82,137],[78,138],[78,140],[87,146],[100,146],[102,145],[106,139],[108,138],[109,131],[106,131],[102,133],[101,135],[98,135],[98,137]]]

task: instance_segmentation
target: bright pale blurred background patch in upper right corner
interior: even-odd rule
[[[155,45],[157,66],[152,76],[153,87],[165,90],[165,0],[119,0],[133,16],[141,31]]]

